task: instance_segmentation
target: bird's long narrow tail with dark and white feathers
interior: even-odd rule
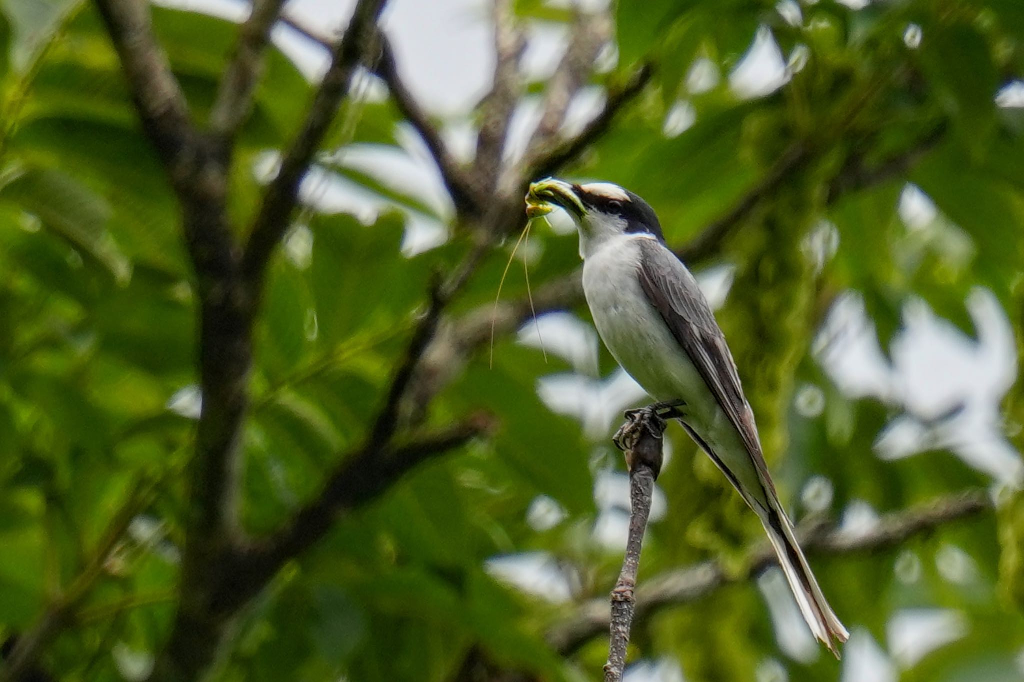
[[[790,589],[793,590],[793,595],[797,598],[800,612],[803,613],[811,632],[839,658],[840,653],[839,649],[836,648],[834,638],[845,642],[850,637],[850,633],[840,623],[836,612],[833,611],[825,596],[821,593],[818,581],[814,579],[814,574],[811,573],[811,567],[807,564],[807,559],[804,558],[804,552],[797,543],[793,524],[780,507],[771,506],[775,508],[767,511],[759,509],[758,515],[761,516],[761,522],[765,527],[768,539],[771,540],[771,546],[778,556],[778,564],[785,575],[785,580],[790,583]]]

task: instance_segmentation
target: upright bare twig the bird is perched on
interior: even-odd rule
[[[647,530],[647,517],[650,515],[654,481],[662,470],[663,434],[665,421],[653,410],[648,409],[627,413],[627,422],[615,435],[615,444],[625,447],[626,461],[630,467],[630,531],[623,569],[611,590],[605,682],[622,682],[626,670],[626,651],[636,607],[634,591],[640,567],[640,548]]]

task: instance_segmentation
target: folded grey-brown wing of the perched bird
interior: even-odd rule
[[[697,368],[722,410],[739,431],[765,488],[775,492],[761,452],[754,411],[743,396],[725,334],[690,271],[653,239],[640,239],[638,277],[647,300]]]

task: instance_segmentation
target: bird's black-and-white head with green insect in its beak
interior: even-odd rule
[[[556,178],[530,183],[526,215],[543,216],[555,208],[572,217],[580,228],[581,252],[621,234],[646,233],[665,241],[662,225],[642,198],[610,182],[577,185]]]

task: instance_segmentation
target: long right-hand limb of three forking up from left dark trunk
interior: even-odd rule
[[[386,0],[359,0],[345,35],[331,55],[331,65],[306,113],[302,130],[284,153],[278,175],[267,185],[242,259],[244,276],[258,290],[267,261],[289,226],[298,201],[299,184],[309,171],[313,154],[348,93],[352,75],[373,47],[377,17]]]

